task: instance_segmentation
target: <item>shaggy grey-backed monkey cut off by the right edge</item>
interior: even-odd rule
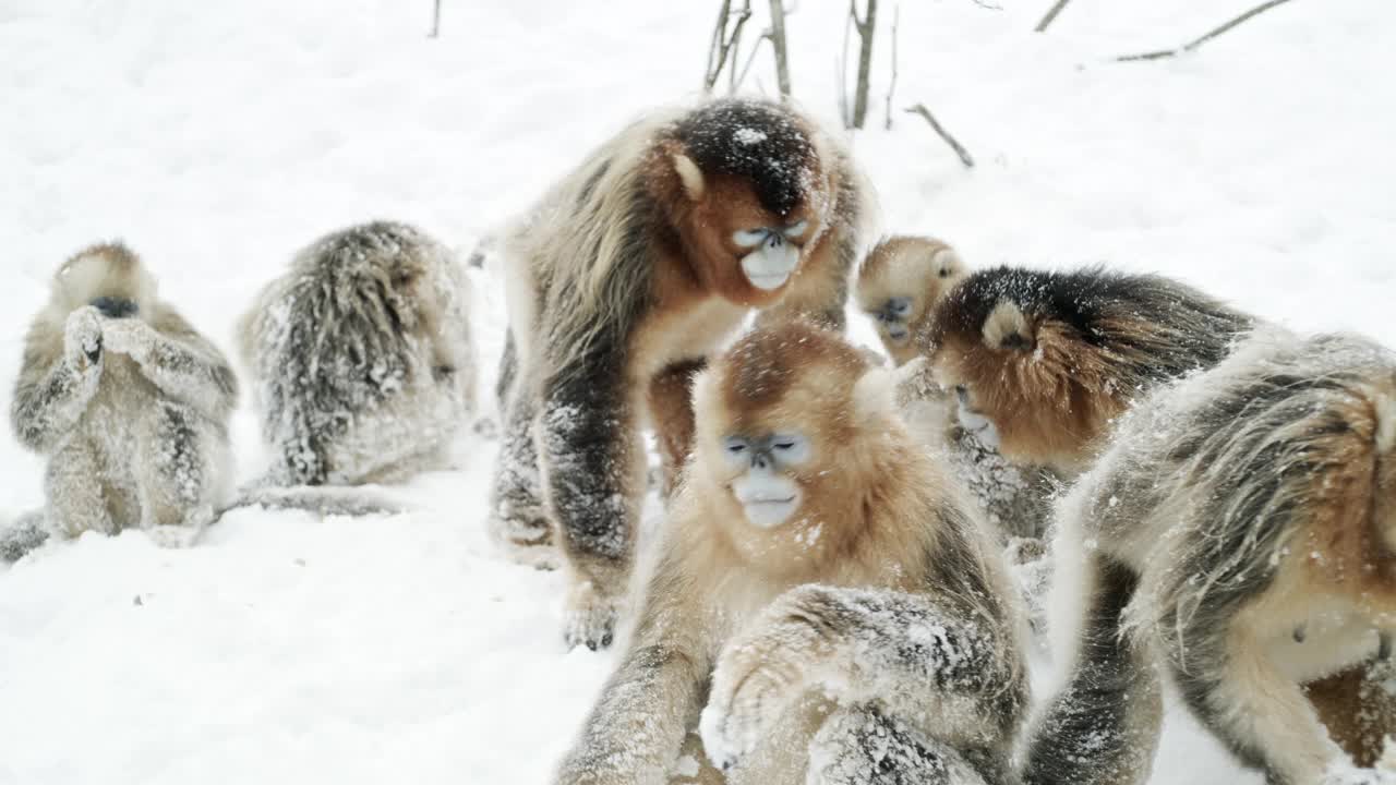
[[[1301,684],[1383,654],[1396,629],[1396,355],[1266,328],[1157,390],[1065,500],[1057,553],[1085,559],[1057,574],[1090,602],[1029,782],[1141,782],[1156,665],[1242,763],[1318,782],[1343,756]]]

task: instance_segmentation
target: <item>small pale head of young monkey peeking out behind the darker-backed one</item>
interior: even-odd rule
[[[966,274],[955,249],[931,237],[886,237],[868,253],[859,270],[856,296],[896,365],[917,356],[916,332]]]

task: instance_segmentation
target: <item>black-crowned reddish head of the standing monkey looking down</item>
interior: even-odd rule
[[[779,298],[825,232],[836,187],[826,155],[789,109],[720,99],[660,134],[649,180],[695,275],[759,307]]]

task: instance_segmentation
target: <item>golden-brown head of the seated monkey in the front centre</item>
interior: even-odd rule
[[[799,321],[743,337],[699,374],[691,483],[734,541],[838,539],[829,529],[860,520],[868,453],[896,427],[889,386],[870,381],[885,374]]]

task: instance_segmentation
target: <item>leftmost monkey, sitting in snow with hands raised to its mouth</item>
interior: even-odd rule
[[[47,458],[46,506],[21,520],[24,538],[7,535],[8,557],[47,534],[84,531],[141,528],[188,545],[214,520],[229,480],[236,377],[156,299],[130,249],[92,246],[63,263],[22,363],[11,422]]]

